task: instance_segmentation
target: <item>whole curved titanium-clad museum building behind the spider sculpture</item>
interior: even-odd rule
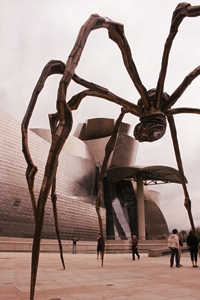
[[[104,149],[114,126],[111,119],[91,119],[79,124],[70,136],[59,158],[57,173],[57,210],[61,238],[76,236],[96,240],[99,232],[95,210],[98,171]],[[32,237],[34,217],[25,179],[26,162],[22,154],[20,123],[0,111],[0,235]],[[130,125],[122,123],[108,168],[132,167],[138,142],[129,136]],[[38,167],[35,181],[36,199],[50,147],[46,129],[29,130],[29,145]],[[145,198],[146,233],[167,234],[167,224],[159,207],[150,196]],[[104,179],[104,206],[101,208],[107,238],[129,238],[137,234],[137,199],[130,181]],[[45,209],[43,238],[55,238],[51,199]]]

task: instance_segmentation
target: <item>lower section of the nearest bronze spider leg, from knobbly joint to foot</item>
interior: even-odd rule
[[[36,211],[36,226],[32,247],[30,300],[34,299],[45,205],[56,176],[59,154],[72,128],[72,114],[66,102],[57,101],[57,110],[59,112],[59,122],[49,150]]]

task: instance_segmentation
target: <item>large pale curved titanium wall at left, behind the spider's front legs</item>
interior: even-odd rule
[[[35,182],[37,196],[50,147],[49,135],[48,130],[38,130],[37,135],[29,131],[28,134],[31,155],[39,169]],[[2,111],[0,141],[0,235],[32,237],[35,223],[25,179],[26,162],[22,153],[20,123]],[[95,179],[93,154],[81,140],[70,137],[60,155],[57,173],[61,238],[71,239],[76,235],[82,240],[96,240],[99,224],[94,205]],[[104,208],[101,213],[105,227]],[[43,238],[54,237],[53,211],[49,198],[45,209]]]

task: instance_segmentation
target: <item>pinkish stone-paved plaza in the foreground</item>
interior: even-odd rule
[[[35,300],[196,300],[200,267],[183,253],[181,268],[169,267],[169,255],[132,261],[131,254],[106,254],[104,266],[95,254],[41,253]],[[0,253],[0,300],[29,300],[31,253]]]

